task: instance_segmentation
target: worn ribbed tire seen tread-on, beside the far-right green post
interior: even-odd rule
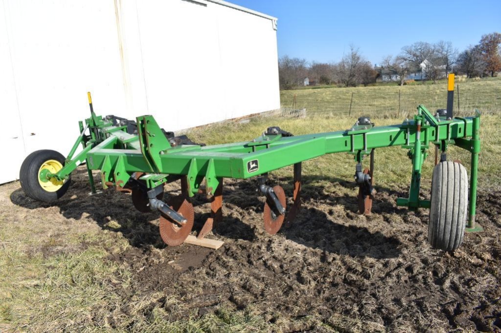
[[[458,162],[443,161],[433,168],[428,241],[434,248],[453,251],[463,241],[468,206],[468,175]]]

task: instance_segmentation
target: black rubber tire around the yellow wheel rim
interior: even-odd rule
[[[57,160],[64,165],[65,157],[61,153],[55,150],[47,149],[32,152],[25,158],[23,164],[21,165],[21,169],[19,171],[21,188],[23,188],[26,195],[32,199],[45,202],[55,201],[63,196],[70,186],[71,178],[67,179],[63,186],[54,192],[49,192],[40,185],[38,179],[40,167],[46,161],[51,159]]]

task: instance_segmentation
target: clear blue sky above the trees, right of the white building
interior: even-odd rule
[[[501,0],[229,0],[278,17],[279,56],[338,61],[351,43],[379,63],[416,41],[450,40],[459,51],[501,32]]]

